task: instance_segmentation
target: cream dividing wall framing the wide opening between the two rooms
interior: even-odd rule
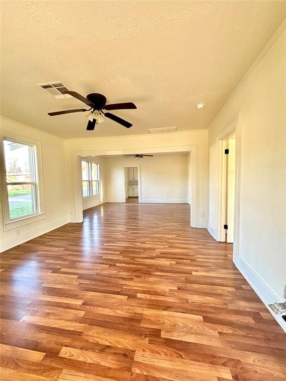
[[[70,220],[75,221],[76,191],[75,168],[76,155],[122,155],[127,153],[178,152],[187,151],[184,147],[196,147],[197,158],[195,178],[197,180],[197,226],[207,226],[208,213],[208,131],[193,130],[162,134],[114,136],[101,138],[81,138],[66,140],[68,190],[70,201]],[[77,169],[76,169],[77,170]],[[106,174],[106,184],[113,181]],[[122,199],[122,195],[120,200]],[[188,196],[186,196],[188,199]],[[120,201],[119,200],[119,201]],[[206,213],[203,218],[202,213]]]

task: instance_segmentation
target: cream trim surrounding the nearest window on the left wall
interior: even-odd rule
[[[3,230],[17,229],[21,226],[28,225],[46,218],[45,215],[45,203],[44,203],[44,181],[43,181],[43,166],[42,166],[42,150],[41,141],[33,139],[28,136],[15,134],[9,131],[2,130],[1,136],[1,203],[2,203],[2,218],[3,218]],[[34,147],[35,155],[35,182],[36,182],[36,203],[37,203],[37,213],[29,214],[17,219],[10,219],[9,214],[9,204],[8,204],[8,191],[6,182],[6,167],[5,167],[5,156],[3,149],[3,140],[11,140],[20,144],[28,144]]]

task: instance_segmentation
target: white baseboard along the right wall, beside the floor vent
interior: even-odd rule
[[[279,298],[278,295],[264,282],[263,279],[243,260],[240,256],[238,256],[237,268],[244,276],[244,278],[251,285],[253,290],[277,320],[277,322],[281,325],[281,327],[286,332],[286,321],[283,320],[281,315],[276,315],[269,307],[268,304],[272,303],[281,303],[283,300]]]

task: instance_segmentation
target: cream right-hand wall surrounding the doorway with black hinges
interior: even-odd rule
[[[210,229],[216,224],[215,139],[240,113],[239,263],[257,288],[280,299],[286,284],[285,41],[280,30],[209,129]]]

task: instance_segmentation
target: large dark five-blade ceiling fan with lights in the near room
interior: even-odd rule
[[[84,98],[82,95],[78,94],[75,91],[65,91],[64,94],[70,94],[74,98],[78,99],[79,101],[85,103],[87,106],[90,107],[90,109],[75,109],[75,110],[64,110],[64,111],[56,111],[54,113],[48,113],[51,117],[55,115],[62,115],[62,114],[70,114],[70,113],[79,113],[84,111],[89,111],[87,118],[89,119],[86,129],[87,130],[94,130],[94,127],[96,123],[104,122],[103,115],[106,118],[109,118],[113,120],[114,122],[119,123],[120,125],[130,128],[132,126],[131,123],[125,121],[124,119],[119,118],[118,116],[111,114],[111,113],[105,113],[103,110],[127,110],[127,109],[137,109],[136,105],[132,102],[127,103],[115,103],[113,105],[106,105],[106,97],[101,94],[88,94],[86,98]]]

